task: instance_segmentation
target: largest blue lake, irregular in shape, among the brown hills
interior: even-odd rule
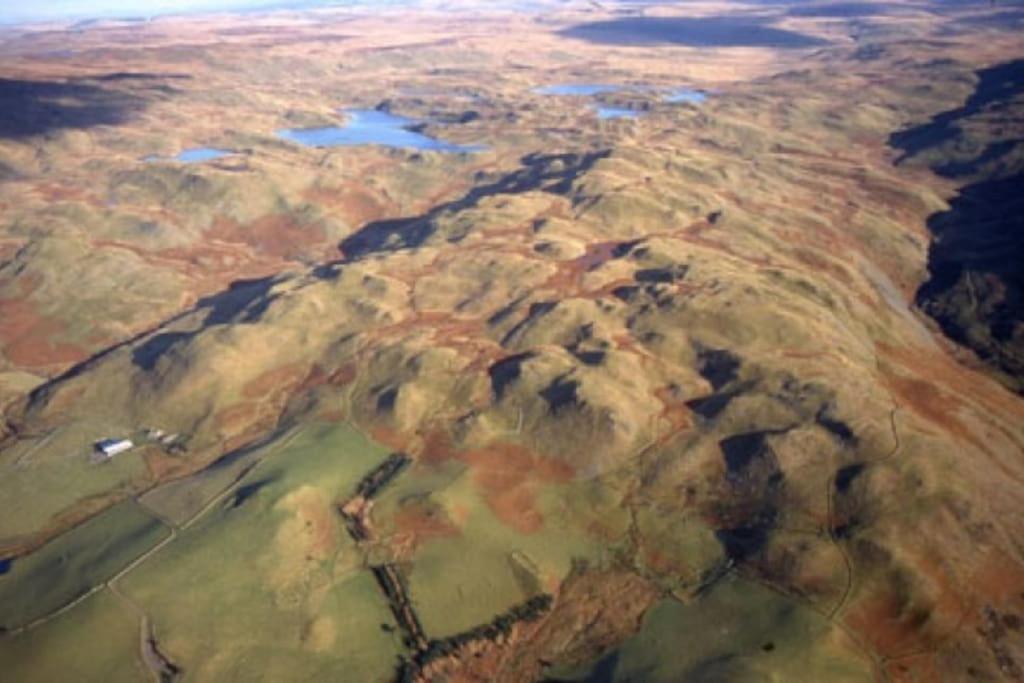
[[[344,126],[326,128],[290,128],[279,130],[278,136],[310,147],[380,144],[386,147],[423,150],[426,152],[480,152],[478,144],[445,142],[411,130],[418,122],[377,110],[346,110]]]

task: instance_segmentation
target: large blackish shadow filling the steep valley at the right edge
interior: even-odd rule
[[[929,280],[918,306],[1024,393],[1024,59],[977,72],[962,106],[893,133],[897,163],[924,160],[968,181],[928,227]]]

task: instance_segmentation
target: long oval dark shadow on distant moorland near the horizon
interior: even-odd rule
[[[559,32],[603,45],[686,45],[689,47],[820,47],[827,41],[776,29],[754,16],[626,16],[578,24]]]

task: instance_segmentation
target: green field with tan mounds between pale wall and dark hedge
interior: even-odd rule
[[[387,455],[350,427],[309,427],[125,579],[185,680],[393,673],[393,618],[335,510]]]

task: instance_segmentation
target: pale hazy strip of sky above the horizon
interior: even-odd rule
[[[0,24],[138,18],[177,12],[244,11],[274,8],[329,7],[345,4],[393,4],[393,0],[0,0]]]

